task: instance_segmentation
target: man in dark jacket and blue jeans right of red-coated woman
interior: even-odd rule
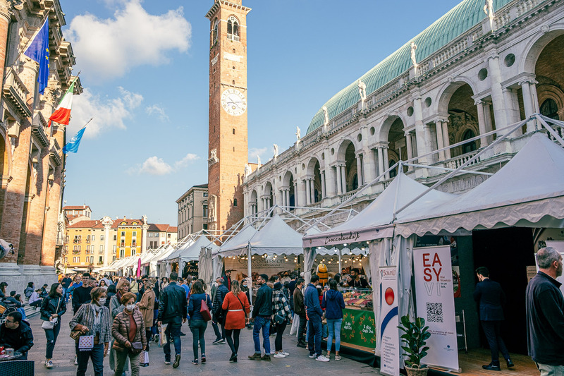
[[[252,308],[252,317],[255,319],[255,326],[252,328],[252,340],[255,342],[255,353],[249,356],[250,360],[270,361],[270,319],[272,316],[272,289],[266,284],[269,276],[261,274],[257,279],[260,285],[257,291],[257,299]],[[264,346],[264,356],[260,356],[260,329],[262,328],[262,346]]]

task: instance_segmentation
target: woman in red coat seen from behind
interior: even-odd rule
[[[223,310],[227,310],[225,319],[226,340],[231,348],[230,362],[237,361],[237,351],[239,350],[239,334],[241,329],[248,324],[249,301],[247,294],[241,291],[239,281],[231,281],[231,291],[223,299]],[[232,336],[233,335],[233,336]]]

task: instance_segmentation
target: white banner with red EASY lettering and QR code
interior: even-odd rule
[[[417,316],[429,326],[422,363],[458,370],[450,245],[413,249]]]

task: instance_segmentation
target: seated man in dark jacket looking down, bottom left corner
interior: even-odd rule
[[[22,320],[21,313],[8,313],[6,321],[0,325],[0,346],[13,348],[23,354],[19,360],[27,360],[27,351],[33,346],[33,334],[30,324]]]

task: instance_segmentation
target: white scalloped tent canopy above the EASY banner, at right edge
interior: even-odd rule
[[[564,226],[564,149],[537,133],[484,183],[450,202],[398,217],[404,237],[500,226]]]

